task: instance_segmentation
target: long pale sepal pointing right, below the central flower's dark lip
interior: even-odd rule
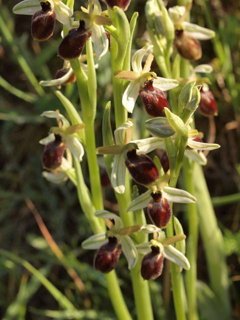
[[[171,202],[194,203],[196,198],[189,192],[181,189],[164,186],[162,196]]]

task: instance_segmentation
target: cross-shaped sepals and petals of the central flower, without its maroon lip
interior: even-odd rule
[[[132,125],[133,123],[130,120],[122,123],[118,128],[114,130],[115,144],[101,146],[96,149],[97,154],[114,154],[113,166],[111,171],[111,184],[117,193],[124,193],[125,191],[125,147],[133,144],[137,148],[137,153],[146,154],[156,148],[163,146],[163,140],[157,137],[131,140],[130,136]]]

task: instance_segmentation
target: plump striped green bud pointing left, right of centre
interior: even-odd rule
[[[166,138],[175,133],[167,118],[164,116],[157,116],[146,120],[145,128],[151,135],[160,138]]]

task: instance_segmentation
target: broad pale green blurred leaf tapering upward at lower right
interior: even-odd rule
[[[221,231],[217,226],[204,174],[200,165],[193,168],[193,181],[199,217],[199,229],[206,254],[210,285],[222,312],[222,320],[230,318],[228,272]]]

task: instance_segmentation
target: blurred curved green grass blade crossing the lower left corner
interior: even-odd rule
[[[51,293],[55,300],[63,309],[75,310],[74,305],[63,295],[41,272],[39,272],[33,265],[28,261],[20,258],[12,252],[0,249],[0,254],[5,259],[9,259],[14,263],[21,264],[26,270],[28,270],[33,276],[38,279],[42,285]]]

